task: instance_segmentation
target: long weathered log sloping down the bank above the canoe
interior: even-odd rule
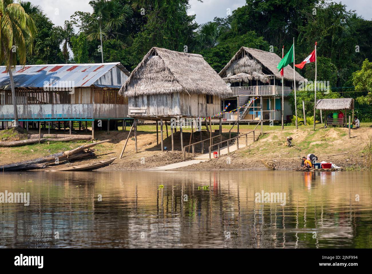
[[[77,154],[78,152],[83,151],[84,149],[94,147],[95,145],[102,144],[105,142],[109,142],[111,140],[104,140],[100,142],[95,142],[91,144],[81,145],[80,147],[67,150],[64,152],[58,152],[52,155],[48,155],[45,157],[23,161],[19,163],[13,163],[13,164],[6,164],[3,166],[0,166],[0,171],[8,171],[8,170],[29,170],[29,169],[40,169],[45,166],[45,164],[53,163],[56,160],[58,161],[64,161],[64,160],[70,160],[70,156]]]

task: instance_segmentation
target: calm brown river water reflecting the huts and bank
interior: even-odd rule
[[[1,173],[0,248],[372,248],[371,179],[370,171]],[[6,191],[29,193],[29,205],[5,203]],[[266,192],[278,196],[265,200]]]

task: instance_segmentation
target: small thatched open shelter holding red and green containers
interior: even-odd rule
[[[319,99],[317,100],[318,110],[324,111],[324,126],[326,125],[340,125],[347,124],[347,111],[352,111],[352,118],[354,117],[354,99],[353,98],[336,98],[336,99]],[[327,117],[327,111],[330,112],[330,117]],[[340,113],[338,113],[338,111]],[[342,113],[344,111],[344,113]],[[337,113],[333,116],[331,113]],[[341,115],[342,114],[342,115]]]

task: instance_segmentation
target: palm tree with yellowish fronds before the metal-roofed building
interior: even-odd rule
[[[20,4],[13,0],[0,0],[0,62],[6,65],[12,89],[14,127],[19,126],[17,98],[12,69],[17,64],[26,64],[26,53],[32,52],[36,26]]]

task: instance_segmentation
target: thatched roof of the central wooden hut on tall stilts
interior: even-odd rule
[[[200,54],[153,47],[121,87],[119,94],[187,92],[230,97],[232,92]]]

